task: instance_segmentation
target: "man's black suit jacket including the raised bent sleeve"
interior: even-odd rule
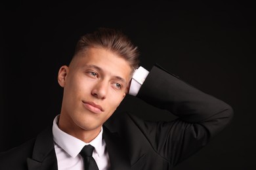
[[[158,65],[150,71],[137,97],[178,118],[171,122],[147,122],[128,112],[114,113],[103,131],[111,169],[171,169],[205,146],[229,124],[233,115],[228,104]],[[0,154],[1,170],[57,168],[52,127]]]

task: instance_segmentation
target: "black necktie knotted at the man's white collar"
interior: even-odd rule
[[[79,153],[81,156],[83,156],[83,164],[85,167],[85,170],[98,170],[98,166],[96,164],[95,159],[93,158],[93,150],[95,148],[89,145],[85,145],[81,152]]]

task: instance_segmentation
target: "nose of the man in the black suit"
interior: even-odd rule
[[[106,94],[108,93],[108,83],[99,81],[93,87],[91,94],[98,99],[106,99]]]

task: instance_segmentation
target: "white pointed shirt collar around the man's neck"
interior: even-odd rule
[[[91,144],[92,146],[95,147],[94,152],[98,154],[98,156],[102,156],[104,154],[104,144],[102,141],[102,133],[103,133],[103,128],[101,127],[100,133],[98,136],[96,136],[93,141],[90,143],[85,143],[81,141],[80,139],[77,139],[73,137],[72,135],[69,135],[68,133],[62,131],[60,128],[58,128],[58,118],[60,114],[58,114],[54,120],[53,120],[53,140],[60,148],[65,150],[70,156],[75,158],[79,152],[82,150],[83,146],[87,144]]]

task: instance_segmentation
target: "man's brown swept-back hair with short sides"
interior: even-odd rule
[[[100,27],[93,33],[83,35],[75,46],[74,56],[87,48],[104,48],[125,59],[132,72],[139,67],[139,50],[131,40],[118,29]]]

